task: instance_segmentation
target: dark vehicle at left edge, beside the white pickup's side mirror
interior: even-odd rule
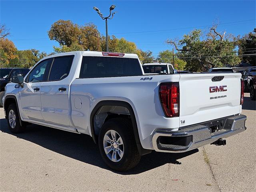
[[[26,68],[0,68],[0,107],[3,107],[2,98],[4,96],[4,87],[11,82],[12,76],[25,76],[29,70]]]

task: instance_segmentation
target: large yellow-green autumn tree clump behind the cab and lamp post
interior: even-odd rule
[[[48,31],[51,40],[56,40],[60,47],[54,46],[54,52],[70,52],[78,50],[106,51],[106,37],[101,35],[93,23],[82,26],[72,23],[70,20],[58,20],[52,24]],[[142,63],[152,62],[152,52],[142,51],[134,42],[124,38],[108,36],[108,47],[110,52],[138,54]]]

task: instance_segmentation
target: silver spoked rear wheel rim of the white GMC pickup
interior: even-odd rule
[[[118,132],[109,130],[104,135],[103,147],[106,155],[113,162],[118,162],[124,156],[124,143]]]

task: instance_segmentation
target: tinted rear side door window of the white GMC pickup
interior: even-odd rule
[[[50,68],[49,81],[57,81],[66,78],[70,72],[74,55],[55,57]]]

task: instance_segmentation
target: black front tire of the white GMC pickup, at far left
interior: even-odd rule
[[[15,115],[15,125],[10,125],[10,112],[13,112],[14,115]],[[19,114],[18,114],[18,110],[17,110],[17,107],[16,107],[16,104],[12,103],[9,105],[8,109],[7,109],[7,112],[6,112],[6,117],[7,117],[7,124],[8,124],[8,127],[10,129],[10,131],[12,133],[20,133],[20,132],[23,132],[25,130],[25,124],[22,124],[22,126],[20,126],[20,117],[19,117]],[[13,127],[12,127],[13,126]]]

